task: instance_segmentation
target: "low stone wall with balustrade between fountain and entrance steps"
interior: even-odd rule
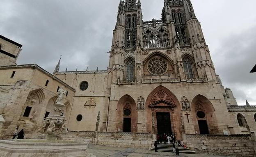
[[[152,136],[149,133],[69,131],[69,133],[62,135],[62,139],[89,141],[90,144],[103,146],[149,149],[152,147]]]

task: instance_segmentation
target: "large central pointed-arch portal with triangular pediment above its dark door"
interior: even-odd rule
[[[148,123],[152,125],[155,134],[175,134],[181,139],[181,106],[176,96],[164,86],[158,86],[148,96],[146,106],[151,108],[148,112]]]

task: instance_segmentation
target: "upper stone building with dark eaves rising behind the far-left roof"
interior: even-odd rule
[[[21,44],[0,35],[0,66],[16,65]]]

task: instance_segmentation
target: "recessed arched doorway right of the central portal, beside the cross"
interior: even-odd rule
[[[191,118],[196,134],[218,134],[217,118],[213,104],[203,95],[191,102]]]

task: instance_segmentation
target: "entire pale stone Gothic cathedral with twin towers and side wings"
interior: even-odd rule
[[[165,0],[161,20],[142,17],[140,0],[120,1],[104,71],[61,72],[59,62],[50,74],[36,64],[2,63],[1,135],[16,126],[34,131],[52,112],[61,86],[69,92],[64,114],[70,131],[95,131],[98,112],[101,132],[184,139],[256,131],[256,107],[238,106],[222,85],[190,0]]]

